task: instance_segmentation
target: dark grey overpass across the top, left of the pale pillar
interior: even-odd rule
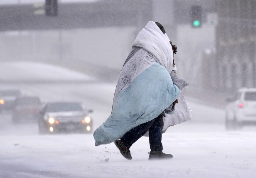
[[[143,8],[141,8],[143,6]],[[135,26],[152,19],[151,0],[58,3],[58,15],[46,16],[44,3],[0,6],[0,31]]]

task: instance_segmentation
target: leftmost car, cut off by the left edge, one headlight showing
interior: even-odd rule
[[[20,95],[19,89],[0,89],[0,112],[12,110],[15,99]]]

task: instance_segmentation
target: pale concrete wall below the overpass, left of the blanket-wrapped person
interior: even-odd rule
[[[0,61],[82,61],[120,69],[135,32],[135,27],[1,32]]]

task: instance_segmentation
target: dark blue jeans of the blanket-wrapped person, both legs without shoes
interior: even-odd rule
[[[163,116],[159,115],[155,119],[144,124],[140,124],[126,132],[121,139],[130,147],[148,131],[151,151],[162,151],[162,128]]]

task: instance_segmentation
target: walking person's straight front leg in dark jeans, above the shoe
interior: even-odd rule
[[[163,116],[159,115],[155,118],[154,123],[149,128],[149,145],[151,151],[162,151],[162,128]]]

